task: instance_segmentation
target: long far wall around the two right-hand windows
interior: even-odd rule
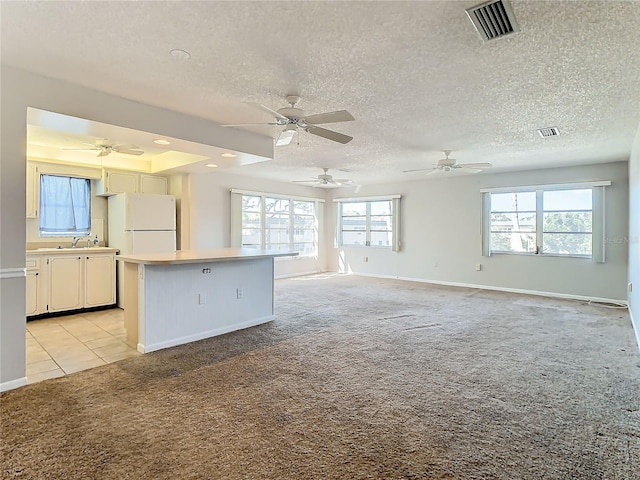
[[[595,180],[612,182],[611,187],[606,187],[606,237],[609,240],[606,263],[580,258],[482,256],[481,188]],[[402,195],[401,251],[344,247],[340,256],[347,268],[360,274],[626,300],[627,182],[627,163],[618,162],[516,173],[441,176],[363,187],[358,195],[336,191],[336,197]],[[364,262],[365,256],[368,262]],[[474,269],[477,263],[482,264],[481,271]],[[334,263],[331,267],[337,269],[339,265]]]

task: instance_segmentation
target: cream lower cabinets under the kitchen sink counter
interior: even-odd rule
[[[115,303],[114,253],[43,255],[39,262],[38,271],[27,266],[27,316]]]

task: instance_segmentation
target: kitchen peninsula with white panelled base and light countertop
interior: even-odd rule
[[[273,259],[248,248],[118,256],[127,341],[146,353],[269,322]]]

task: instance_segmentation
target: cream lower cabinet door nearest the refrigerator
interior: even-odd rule
[[[90,255],[84,261],[85,307],[115,303],[115,256]]]

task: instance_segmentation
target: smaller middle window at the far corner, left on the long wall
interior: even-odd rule
[[[341,200],[339,243],[345,246],[392,247],[397,249],[399,197]]]

